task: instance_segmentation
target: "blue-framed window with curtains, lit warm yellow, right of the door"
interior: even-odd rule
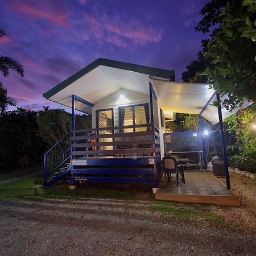
[[[119,107],[119,124],[127,125],[146,125],[149,121],[148,104],[122,106]],[[146,131],[146,127],[136,127],[124,129],[125,133],[132,131]]]

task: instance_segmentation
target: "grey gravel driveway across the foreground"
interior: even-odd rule
[[[163,218],[147,205],[0,200],[1,255],[255,255],[252,235]]]

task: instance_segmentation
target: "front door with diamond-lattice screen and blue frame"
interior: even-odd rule
[[[96,127],[106,128],[114,126],[114,111],[111,109],[96,110]],[[98,131],[98,134],[112,134],[113,130]],[[98,139],[98,142],[112,142],[113,138]],[[113,150],[113,146],[101,146],[99,150]]]

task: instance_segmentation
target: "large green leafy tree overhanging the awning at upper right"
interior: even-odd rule
[[[211,3],[218,5],[217,2]],[[222,105],[231,110],[244,98],[256,102],[256,1],[220,2],[211,19],[201,20],[205,24],[199,23],[196,30],[205,32],[212,24],[220,25],[203,44],[204,56],[211,62],[204,75],[213,88],[228,94]]]

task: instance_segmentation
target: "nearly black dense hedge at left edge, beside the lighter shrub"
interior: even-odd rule
[[[0,170],[38,163],[46,143],[40,137],[37,112],[17,108],[0,118]]]

